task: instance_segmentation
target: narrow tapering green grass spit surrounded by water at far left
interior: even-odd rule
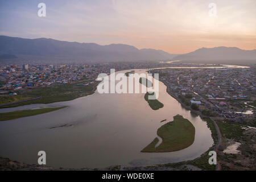
[[[51,111],[63,109],[66,106],[63,107],[55,107],[55,108],[43,108],[43,109],[31,109],[31,110],[18,110],[13,111],[9,113],[0,113],[0,121],[7,121],[10,119],[17,119],[17,118],[23,118],[28,117],[32,115],[38,115],[38,114],[44,114]]]

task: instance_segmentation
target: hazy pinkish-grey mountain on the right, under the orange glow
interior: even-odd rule
[[[256,61],[256,49],[251,51],[242,50],[237,47],[214,47],[214,48],[200,48],[196,51],[185,53],[174,57],[173,60],[185,60],[185,61],[209,61],[209,60],[255,60]]]

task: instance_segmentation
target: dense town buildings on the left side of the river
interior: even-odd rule
[[[170,66],[170,64],[155,62],[0,65],[0,90],[11,91],[20,88],[31,88],[34,86],[66,84],[81,79],[95,80],[100,73],[110,73],[110,69],[120,71],[123,69],[147,69],[167,66]]]

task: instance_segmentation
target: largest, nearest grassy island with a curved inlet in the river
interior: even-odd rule
[[[161,126],[157,134],[162,138],[162,143],[155,147],[159,141],[155,138],[141,152],[172,152],[187,148],[195,140],[195,127],[182,115],[176,115],[174,121]]]

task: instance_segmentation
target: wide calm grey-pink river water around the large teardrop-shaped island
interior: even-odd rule
[[[0,122],[0,156],[36,164],[38,151],[43,150],[47,154],[47,165],[69,168],[142,166],[199,157],[213,144],[207,123],[181,107],[166,92],[162,82],[159,82],[159,92],[158,100],[164,104],[159,110],[152,110],[142,93],[98,92],[73,101],[1,109],[6,112],[68,106],[51,113]],[[172,121],[176,114],[183,115],[195,126],[195,142],[176,152],[140,152],[156,137],[158,128]],[[163,119],[167,121],[160,123]],[[69,126],[56,127],[65,124]]]

